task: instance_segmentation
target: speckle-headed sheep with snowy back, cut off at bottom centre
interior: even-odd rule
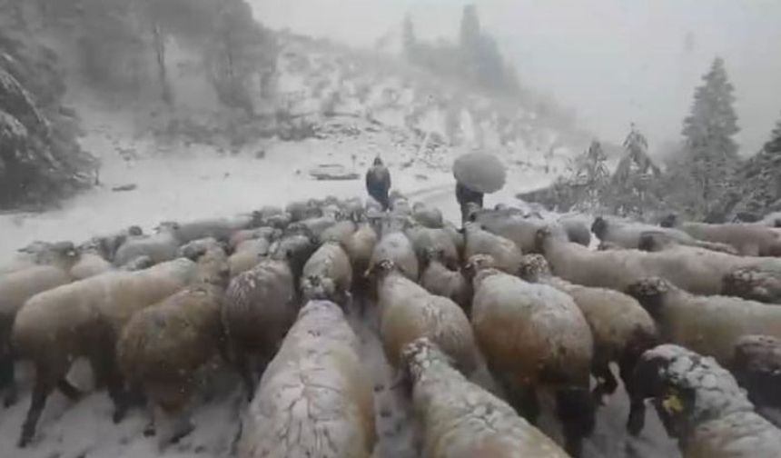
[[[405,346],[402,362],[413,386],[414,412],[423,427],[420,456],[568,456],[507,403],[454,370],[429,339]]]

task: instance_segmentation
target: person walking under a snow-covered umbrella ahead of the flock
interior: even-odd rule
[[[507,173],[504,165],[492,154],[464,154],[453,163],[456,177],[456,200],[461,208],[461,223],[469,218],[470,204],[483,206],[483,195],[499,191]]]

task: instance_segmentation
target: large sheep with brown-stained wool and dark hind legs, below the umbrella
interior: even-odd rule
[[[586,318],[568,294],[547,284],[478,269],[471,323],[489,372],[532,424],[539,416],[537,389],[554,390],[565,450],[578,456],[595,415],[588,393],[594,343]]]

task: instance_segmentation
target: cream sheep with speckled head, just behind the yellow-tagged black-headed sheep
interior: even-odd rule
[[[656,320],[665,342],[712,356],[725,366],[744,335],[781,337],[781,307],[776,305],[689,294],[658,277],[631,284],[627,292]]]

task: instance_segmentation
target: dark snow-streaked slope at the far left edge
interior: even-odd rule
[[[92,184],[93,160],[63,105],[54,50],[35,36],[20,4],[0,1],[0,208],[49,202]]]

